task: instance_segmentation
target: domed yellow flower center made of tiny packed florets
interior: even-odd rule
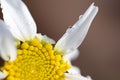
[[[62,52],[37,38],[17,44],[17,53],[15,61],[1,67],[7,71],[6,80],[64,80],[64,73],[70,68]]]

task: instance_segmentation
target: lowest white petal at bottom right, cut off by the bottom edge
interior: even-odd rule
[[[80,74],[66,73],[65,76],[66,76],[65,80],[92,80],[89,76],[84,77]]]

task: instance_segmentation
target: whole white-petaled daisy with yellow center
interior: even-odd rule
[[[94,3],[62,38],[54,40],[36,33],[36,24],[22,0],[0,0],[0,80],[91,80],[72,66],[77,48],[98,12]]]

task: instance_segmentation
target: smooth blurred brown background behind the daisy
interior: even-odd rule
[[[72,63],[93,80],[120,80],[119,0],[24,0],[38,26],[38,32],[56,41],[79,15],[95,2],[99,12]],[[1,15],[2,18],[2,15]],[[77,39],[77,38],[76,38]]]

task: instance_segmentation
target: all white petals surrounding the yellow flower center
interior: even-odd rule
[[[37,34],[35,21],[22,0],[0,0],[0,3],[4,19],[4,21],[0,20],[0,57],[2,59],[13,61],[16,58],[15,40],[26,41],[38,37],[55,44],[53,39]],[[78,56],[77,48],[84,40],[97,12],[98,7],[92,3],[72,28],[67,29],[56,43],[55,49],[64,51],[65,59],[70,64],[71,60]],[[65,73],[65,80],[91,80],[89,76],[83,77],[77,67],[73,66],[68,72]],[[0,80],[5,77],[5,71],[0,71]]]

